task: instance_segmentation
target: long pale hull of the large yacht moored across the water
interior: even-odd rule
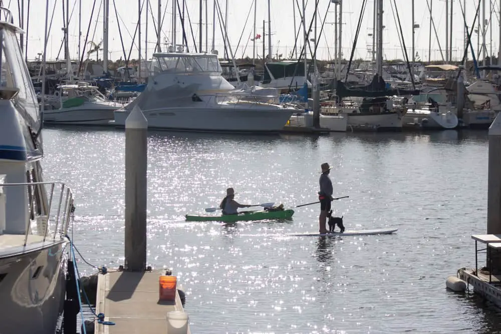
[[[295,109],[273,108],[231,108],[211,109],[172,108],[143,111],[149,129],[209,132],[280,132]],[[129,113],[117,110],[115,120],[110,122],[116,127],[124,127]]]

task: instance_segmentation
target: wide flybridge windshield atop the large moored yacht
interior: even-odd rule
[[[155,72],[178,74],[221,73],[216,55],[156,54]]]

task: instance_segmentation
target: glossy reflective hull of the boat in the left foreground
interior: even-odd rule
[[[61,241],[0,257],[3,333],[55,332],[64,306],[67,245]]]

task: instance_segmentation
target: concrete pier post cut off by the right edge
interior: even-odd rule
[[[487,186],[487,234],[501,234],[501,116],[496,118],[489,127],[489,160]],[[501,256],[492,252],[492,272],[501,269]],[[487,255],[488,256],[488,255]],[[487,257],[487,264],[489,258]]]

